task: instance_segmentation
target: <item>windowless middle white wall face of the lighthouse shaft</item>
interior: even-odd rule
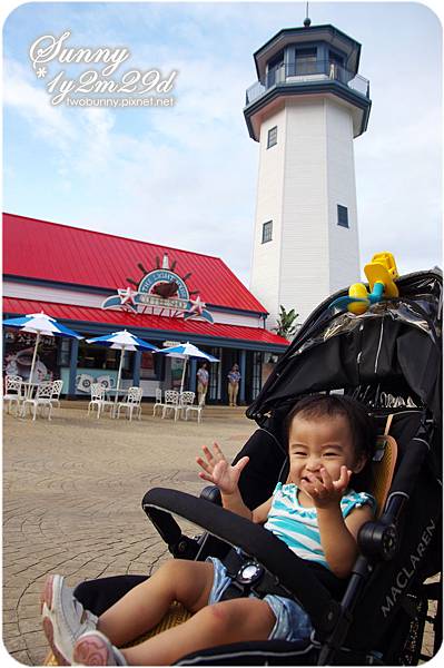
[[[325,100],[289,100],[286,115],[279,304],[303,322],[329,287]]]

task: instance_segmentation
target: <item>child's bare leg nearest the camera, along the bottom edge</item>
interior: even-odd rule
[[[270,607],[254,598],[234,599],[201,608],[188,621],[127,649],[120,650],[131,666],[168,666],[180,657],[229,642],[266,640],[276,618]],[[99,639],[100,642],[100,639]],[[97,638],[83,636],[76,644],[75,657],[81,664],[103,665]]]

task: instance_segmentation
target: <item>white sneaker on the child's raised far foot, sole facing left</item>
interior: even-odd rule
[[[76,640],[95,629],[98,620],[72,591],[62,576],[49,576],[41,593],[43,631],[60,666],[72,664]]]

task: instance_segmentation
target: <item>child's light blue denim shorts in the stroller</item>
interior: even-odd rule
[[[210,606],[220,600],[221,595],[230,584],[231,578],[219,559],[208,557],[207,561],[210,561],[214,568],[213,587],[208,598]],[[253,593],[249,596],[254,597]],[[308,640],[313,626],[308,615],[296,601],[274,593],[267,593],[263,600],[268,603],[276,617],[268,640]]]

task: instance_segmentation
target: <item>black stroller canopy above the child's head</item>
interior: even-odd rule
[[[441,423],[442,274],[410,274],[396,284],[398,297],[362,315],[329,307],[346,291],[323,302],[247,410],[248,418],[263,424],[275,407],[303,394],[341,389],[375,407],[425,407]]]

